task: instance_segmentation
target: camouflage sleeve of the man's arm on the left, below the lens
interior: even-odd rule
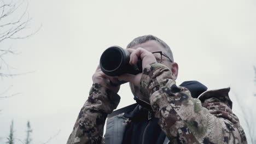
[[[94,83],[88,100],[79,112],[67,144],[104,143],[104,123],[108,113],[117,108],[120,97],[108,88]]]

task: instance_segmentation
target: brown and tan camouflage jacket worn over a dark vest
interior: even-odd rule
[[[176,86],[170,69],[159,63],[147,65],[141,77],[141,92],[149,98],[170,143],[247,143],[232,113],[229,91],[206,91],[199,99],[192,98],[187,88]],[[119,101],[118,94],[94,83],[67,143],[104,143],[104,122]]]

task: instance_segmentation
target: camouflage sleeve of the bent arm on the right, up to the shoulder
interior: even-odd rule
[[[247,143],[239,123],[223,118],[217,111],[212,111],[213,115],[199,99],[191,97],[187,88],[176,86],[165,65],[147,65],[141,92],[149,95],[155,117],[170,143]]]

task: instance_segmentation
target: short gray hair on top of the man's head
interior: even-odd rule
[[[167,51],[166,55],[170,57],[170,59],[172,60],[172,62],[174,62],[174,59],[173,59],[173,54],[172,54],[172,51],[170,49],[170,47],[164,42],[162,41],[161,39],[159,39],[158,37],[155,37],[154,35],[143,35],[141,37],[137,37],[135,39],[133,39],[131,41],[131,43],[129,43],[127,46],[126,46],[126,49],[127,48],[130,48],[130,47],[133,47],[133,46],[136,46],[136,45],[139,45],[139,44],[143,44],[143,43],[146,43],[147,41],[149,40],[155,40],[155,41],[158,41],[159,44],[161,44],[164,49]]]

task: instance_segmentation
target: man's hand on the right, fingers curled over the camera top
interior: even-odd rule
[[[136,64],[138,62],[138,57],[141,57],[142,59],[142,70],[151,63],[156,62],[156,59],[154,55],[147,51],[146,49],[143,49],[141,47],[138,47],[135,49],[126,49],[131,53],[130,55],[130,64]],[[118,77],[118,80],[124,80],[131,82],[133,85],[139,87],[139,82],[141,81],[142,73],[137,75],[131,75],[131,74],[124,74]]]

